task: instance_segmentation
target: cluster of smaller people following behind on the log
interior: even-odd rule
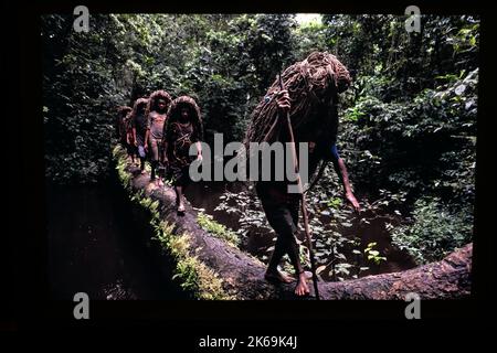
[[[162,186],[161,178],[170,178],[178,212],[183,213],[183,189],[190,182],[188,169],[194,160],[189,154],[191,145],[197,147],[197,159],[202,160],[203,128],[195,100],[189,96],[172,99],[166,90],[156,90],[148,98],[138,98],[133,108],[118,107],[116,131],[133,163],[139,159],[141,173],[148,159],[152,182]]]

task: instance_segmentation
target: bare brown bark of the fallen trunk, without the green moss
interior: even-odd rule
[[[296,299],[295,284],[275,285],[264,279],[265,265],[255,257],[203,231],[197,222],[197,211],[186,202],[186,212],[178,215],[176,194],[171,188],[150,183],[148,173],[140,174],[125,156],[125,171],[133,190],[159,201],[160,217],[175,225],[173,233],[187,234],[190,256],[195,256],[222,279],[223,290],[237,299]],[[456,299],[470,295],[473,245],[455,250],[441,261],[401,272],[368,276],[341,282],[319,282],[322,300],[332,299],[399,299],[416,292],[421,299]],[[314,289],[309,282],[311,296]]]

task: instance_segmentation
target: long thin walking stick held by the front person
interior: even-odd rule
[[[279,89],[283,90],[282,72],[279,72],[278,79],[279,79]],[[296,152],[296,148],[295,148],[294,130],[292,129],[292,120],[289,117],[289,110],[286,111],[286,125],[288,127],[288,135],[290,138],[292,161],[294,163],[294,170],[297,174],[298,192],[300,193],[302,214],[303,214],[303,218],[304,218],[304,229],[306,232],[307,248],[309,249],[310,270],[313,272],[314,292],[316,293],[316,300],[319,300],[320,299],[319,298],[319,289],[317,286],[318,279],[317,279],[317,275],[316,275],[316,263],[315,263],[314,252],[313,252],[313,242],[310,239],[309,220],[307,217],[306,196],[304,194],[304,188],[302,185],[300,174],[299,174],[299,170],[298,170],[297,152]]]

